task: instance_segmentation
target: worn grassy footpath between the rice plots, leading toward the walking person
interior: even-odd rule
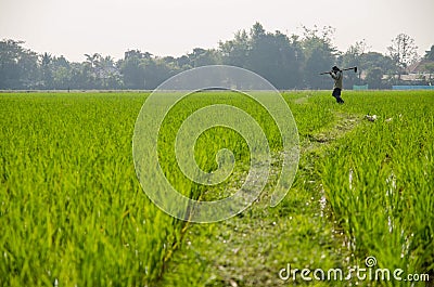
[[[282,286],[294,269],[337,268],[346,250],[335,238],[321,194],[317,159],[362,118],[334,114],[330,129],[301,139],[296,180],[285,199],[269,207],[271,186],[245,212],[213,224],[191,224],[166,264],[159,286]],[[312,259],[314,258],[314,259]]]

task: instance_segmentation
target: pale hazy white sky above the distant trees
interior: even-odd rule
[[[179,56],[259,22],[288,35],[330,25],[341,51],[366,39],[385,53],[405,32],[423,55],[434,44],[433,14],[434,0],[0,0],[0,38],[79,62],[95,52],[118,60],[130,49]]]

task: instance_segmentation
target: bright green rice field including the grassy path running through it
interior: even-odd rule
[[[343,91],[344,105],[330,91],[282,95],[299,135],[291,190],[270,207],[276,157],[248,209],[202,224],[159,210],[136,175],[135,122],[149,94],[0,93],[0,286],[434,286],[434,92]],[[205,186],[182,174],[177,130],[213,104],[246,112],[271,154],[282,149],[272,118],[245,95],[188,96],[165,118],[158,157],[167,180],[199,200],[232,194],[251,158],[240,134],[209,129],[197,165],[216,170],[226,147],[230,178]],[[367,268],[367,258],[391,279],[301,276]],[[289,264],[295,278],[281,277]]]

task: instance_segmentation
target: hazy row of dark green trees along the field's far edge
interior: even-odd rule
[[[420,57],[414,40],[399,34],[387,54],[369,51],[365,40],[341,52],[333,44],[334,28],[303,27],[303,35],[288,36],[266,31],[256,23],[238,31],[233,39],[220,41],[217,49],[195,48],[179,57],[155,56],[140,50],[125,52],[115,61],[110,55],[85,54],[82,63],[64,56],[37,54],[23,48],[23,41],[0,41],[1,90],[152,90],[169,77],[193,67],[225,64],[253,70],[278,89],[329,89],[330,79],[319,76],[331,66],[357,66],[358,73],[345,74],[345,88],[369,84],[373,89],[403,83],[401,75]],[[434,61],[434,45],[424,60]],[[434,73],[432,64],[426,71]],[[421,78],[418,84],[431,79]]]

